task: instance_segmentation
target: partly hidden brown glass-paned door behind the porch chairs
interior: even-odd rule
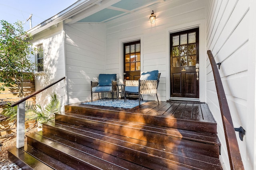
[[[124,79],[140,78],[140,41],[124,43]]]

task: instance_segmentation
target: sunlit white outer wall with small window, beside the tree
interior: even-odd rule
[[[36,90],[40,90],[45,86],[59,80],[65,76],[65,60],[64,60],[64,35],[63,25],[53,25],[49,29],[34,35],[32,43],[34,47],[43,44],[44,49],[44,72],[36,75]],[[49,101],[49,93],[57,92],[61,98],[62,106],[65,104],[65,80],[55,84],[48,90],[41,92],[36,96],[37,103],[41,105]]]

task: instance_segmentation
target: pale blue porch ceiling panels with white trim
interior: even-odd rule
[[[89,8],[66,20],[66,23],[100,23],[131,14],[165,0],[96,0]]]

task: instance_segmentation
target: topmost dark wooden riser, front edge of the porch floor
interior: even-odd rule
[[[131,111],[132,109],[130,109]],[[175,117],[150,115],[142,113],[131,113],[125,111],[114,111],[107,109],[79,107],[79,106],[65,106],[66,113],[76,113],[84,115],[93,115],[99,117],[108,117],[112,119],[126,120],[130,122],[147,123],[151,125],[158,125],[164,127],[173,127],[176,129],[184,129],[188,131],[200,131],[204,133],[217,134],[217,123],[215,121],[198,121],[196,119],[179,119]],[[189,124],[189,126],[187,126]]]

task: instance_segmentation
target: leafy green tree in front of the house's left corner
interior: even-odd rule
[[[33,79],[36,68],[36,63],[30,61],[30,54],[34,54],[29,41],[32,37],[24,31],[20,21],[14,23],[15,26],[4,20],[0,23],[0,82],[4,83],[0,90],[17,84],[22,98],[23,80]]]

